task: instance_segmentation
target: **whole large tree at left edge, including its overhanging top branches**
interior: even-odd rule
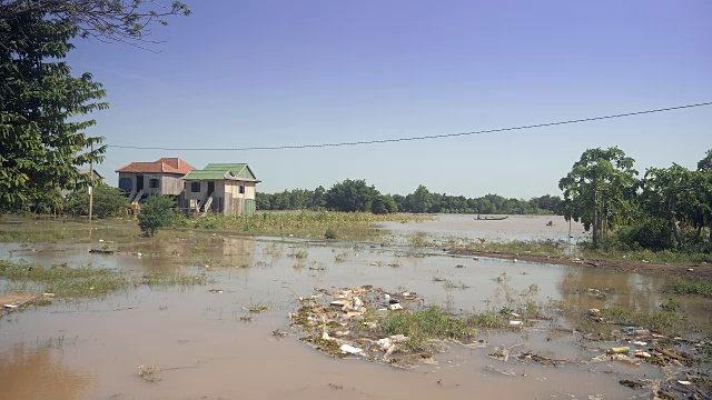
[[[78,166],[101,162],[101,137],[81,117],[108,108],[89,72],[72,76],[65,61],[72,39],[95,37],[138,46],[166,18],[189,14],[179,1],[26,1],[0,3],[0,211],[57,212],[60,189],[85,190]],[[91,148],[91,150],[89,150]]]

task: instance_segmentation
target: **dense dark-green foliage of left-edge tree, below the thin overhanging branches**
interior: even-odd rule
[[[87,188],[75,166],[100,162],[103,138],[82,131],[96,122],[78,117],[106,109],[90,73],[73,78],[63,59],[78,28],[42,12],[0,20],[0,207],[21,208],[56,189]],[[70,120],[71,121],[68,121]]]

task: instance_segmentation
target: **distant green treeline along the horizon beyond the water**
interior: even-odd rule
[[[482,214],[552,214],[560,213],[562,199],[545,194],[538,198],[507,199],[497,194],[466,198],[433,193],[419,186],[413,193],[382,194],[365,180],[347,179],[325,189],[294,189],[279,193],[257,193],[258,210],[372,211],[374,213],[482,213]]]

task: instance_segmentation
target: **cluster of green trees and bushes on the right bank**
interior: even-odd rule
[[[640,180],[633,162],[619,148],[589,149],[558,182],[565,218],[583,222],[593,233],[587,250],[604,257],[652,251],[663,253],[655,256],[661,259],[709,261],[712,150],[695,171],[673,163],[649,168]],[[705,230],[710,232],[706,240]]]

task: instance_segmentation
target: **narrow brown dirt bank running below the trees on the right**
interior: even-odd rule
[[[575,259],[575,258],[556,258],[550,256],[532,256],[521,253],[504,252],[484,252],[471,250],[449,250],[451,254],[473,256],[473,257],[492,257],[497,259],[517,261],[544,262],[558,266],[572,266],[584,268],[599,268],[617,271],[649,273],[649,274],[671,274],[684,278],[712,279],[712,266],[690,264],[690,266],[671,266],[654,262],[639,261],[619,261],[619,260],[594,260],[594,259]],[[692,271],[690,271],[692,269]]]

